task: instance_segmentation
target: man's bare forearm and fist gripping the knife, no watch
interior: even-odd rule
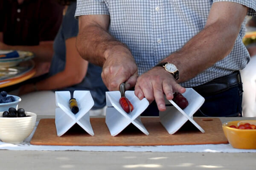
[[[80,16],[76,47],[82,58],[102,66],[102,79],[109,91],[119,90],[123,82],[129,89],[136,84],[138,68],[128,47],[109,34],[109,23],[109,15]]]

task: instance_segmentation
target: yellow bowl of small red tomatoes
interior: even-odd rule
[[[256,149],[256,120],[225,122],[222,129],[232,147]]]

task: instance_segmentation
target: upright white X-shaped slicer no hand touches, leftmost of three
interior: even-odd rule
[[[74,91],[73,97],[76,98],[79,112],[72,113],[69,100],[70,91],[56,91],[55,100],[59,108],[55,109],[55,127],[57,135],[62,136],[76,123],[87,133],[94,136],[93,128],[90,124],[89,110],[93,107],[94,101],[90,91]]]

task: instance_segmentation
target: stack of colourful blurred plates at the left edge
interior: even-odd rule
[[[0,88],[29,79],[35,74],[34,54],[0,50]]]

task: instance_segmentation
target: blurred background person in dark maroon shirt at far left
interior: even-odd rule
[[[31,51],[37,69],[34,77],[47,73],[62,17],[63,6],[56,0],[1,0],[0,50]],[[3,90],[18,87],[20,84]]]

